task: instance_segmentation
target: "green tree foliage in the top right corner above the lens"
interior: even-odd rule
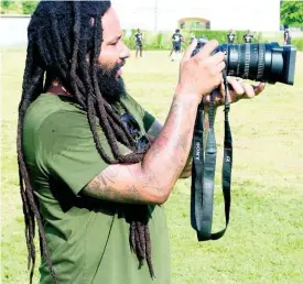
[[[303,1],[282,1],[280,20],[289,26],[303,26]]]

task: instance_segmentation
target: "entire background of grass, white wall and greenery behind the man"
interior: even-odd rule
[[[26,28],[36,3],[1,1],[1,281],[6,284],[29,283],[15,134]],[[268,84],[258,98],[231,106],[232,198],[225,237],[197,242],[190,222],[191,179],[177,182],[164,206],[173,284],[302,284],[303,1],[112,0],[112,3],[125,30],[125,42],[131,48],[131,57],[123,67],[127,89],[162,123],[178,78],[178,64],[170,58],[175,29],[185,39],[185,50],[193,34],[225,43],[230,29],[237,35],[235,43],[242,43],[249,29],[253,42],[283,44],[283,25],[289,24],[292,44],[299,51],[294,86]],[[143,32],[143,57],[136,58],[133,35],[138,28]],[[215,231],[225,223],[220,192],[221,110],[217,111],[215,125],[218,144]]]

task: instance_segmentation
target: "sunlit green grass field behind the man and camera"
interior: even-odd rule
[[[177,81],[167,52],[132,56],[125,66],[129,92],[164,122]],[[25,51],[2,52],[2,283],[29,283],[15,154],[18,102]],[[293,87],[268,85],[253,100],[231,107],[234,171],[231,220],[226,236],[196,240],[190,223],[190,181],[178,182],[166,203],[172,277],[176,283],[303,282],[303,54]],[[218,152],[223,112],[216,122]],[[224,226],[218,157],[214,228]],[[164,174],[164,173],[163,173]],[[118,283],[117,283],[118,284]]]

